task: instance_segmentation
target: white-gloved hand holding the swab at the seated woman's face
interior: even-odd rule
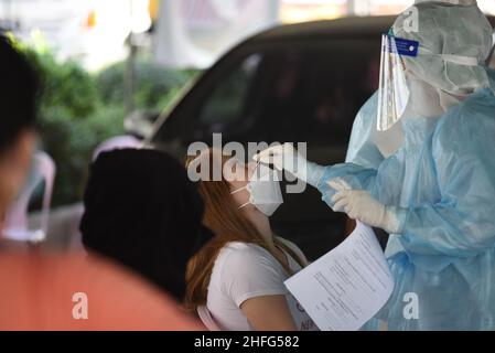
[[[324,167],[309,162],[290,142],[267,148],[252,159],[265,164],[272,163],[278,170],[286,170],[315,188],[324,172]]]

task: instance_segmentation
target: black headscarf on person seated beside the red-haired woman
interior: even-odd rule
[[[90,168],[83,243],[182,300],[189,259],[211,238],[185,168],[155,150],[101,153]]]

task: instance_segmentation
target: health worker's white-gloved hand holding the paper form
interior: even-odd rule
[[[345,212],[349,218],[381,228],[390,234],[399,234],[402,231],[403,212],[384,205],[373,199],[367,191],[344,189],[337,191],[332,201],[335,203],[333,210]]]

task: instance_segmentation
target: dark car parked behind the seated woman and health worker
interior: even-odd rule
[[[380,34],[394,17],[281,25],[224,55],[163,114],[151,142],[183,158],[191,142],[308,142],[308,159],[343,162],[354,118],[377,89]],[[492,24],[495,19],[489,19]],[[308,186],[284,194],[276,232],[314,259],[338,245],[346,217]],[[381,238],[386,240],[386,238]]]

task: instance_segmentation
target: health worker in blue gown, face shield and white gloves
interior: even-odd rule
[[[390,234],[395,289],[365,329],[495,329],[492,34],[474,0],[416,1],[383,38],[380,87],[346,163],[311,163],[290,143],[255,156]]]

